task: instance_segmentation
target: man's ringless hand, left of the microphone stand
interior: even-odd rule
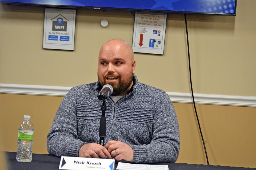
[[[107,151],[107,149],[97,143],[86,143],[84,144],[80,150],[79,150],[79,157],[85,157],[85,158],[111,158],[110,153]]]

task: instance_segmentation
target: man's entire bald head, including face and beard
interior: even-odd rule
[[[126,41],[107,41],[99,51],[98,79],[101,86],[110,84],[114,89],[112,95],[125,95],[133,85],[135,66],[133,49]]]

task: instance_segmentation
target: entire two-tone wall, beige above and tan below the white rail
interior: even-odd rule
[[[237,16],[188,15],[194,93],[256,96],[255,0],[237,0]],[[97,80],[102,43],[130,44],[129,11],[78,9],[75,50],[42,49],[43,7],[0,7],[0,83],[75,86]],[[103,28],[100,21],[107,19]],[[190,92],[184,15],[167,14],[164,55],[135,54],[139,81]],[[23,115],[35,126],[34,153],[47,153],[46,135],[63,97],[0,94],[4,150],[17,150]],[[179,163],[205,164],[192,104],[174,103],[181,131]],[[210,164],[256,168],[255,107],[198,104]]]

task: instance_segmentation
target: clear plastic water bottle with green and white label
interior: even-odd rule
[[[18,129],[18,150],[16,155],[18,162],[31,162],[33,133],[34,126],[30,121],[30,116],[24,115],[24,120]]]

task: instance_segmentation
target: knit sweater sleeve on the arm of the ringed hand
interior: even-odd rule
[[[148,145],[131,146],[134,152],[131,162],[176,162],[180,148],[179,125],[173,104],[166,93],[155,106],[152,132],[152,140]]]

